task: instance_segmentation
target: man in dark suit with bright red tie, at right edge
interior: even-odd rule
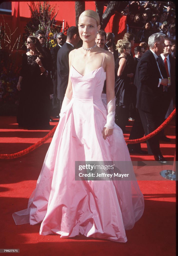
[[[159,56],[158,62],[163,78],[169,78],[169,82],[168,86],[164,88],[164,106],[162,115],[160,115],[160,124],[164,122],[173,95],[175,95],[175,59],[171,55],[171,40],[169,38],[164,38],[164,40],[164,52]],[[164,135],[164,130],[160,132],[160,139],[167,142],[170,141],[170,138]]]

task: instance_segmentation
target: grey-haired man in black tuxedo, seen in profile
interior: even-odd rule
[[[155,33],[148,39],[150,50],[140,58],[134,84],[137,87],[137,104],[145,135],[159,126],[159,116],[164,104],[164,87],[168,79],[163,78],[158,64],[158,56],[164,52],[164,35]],[[160,151],[158,135],[147,142],[148,153],[153,154],[156,161],[166,163]]]

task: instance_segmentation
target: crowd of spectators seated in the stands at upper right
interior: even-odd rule
[[[126,3],[127,4],[127,3]],[[130,1],[121,11],[127,16],[127,32],[135,34],[135,42],[146,42],[154,33],[165,34],[175,40],[175,5],[171,2]]]

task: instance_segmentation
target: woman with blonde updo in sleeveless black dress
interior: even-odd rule
[[[129,73],[126,57],[130,55],[131,43],[129,41],[118,40],[116,48],[120,53],[119,58],[115,62],[116,82],[116,115],[115,123],[125,131],[125,125],[128,121],[129,105],[130,105],[130,78],[133,73]]]

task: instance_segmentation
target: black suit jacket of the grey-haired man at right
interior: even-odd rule
[[[134,84],[137,87],[136,108],[154,113],[159,111],[163,100],[163,86],[159,84],[161,74],[153,53],[148,50],[140,58]]]

